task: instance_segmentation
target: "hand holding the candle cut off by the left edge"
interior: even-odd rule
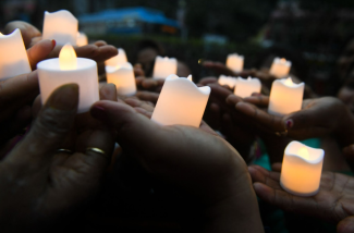
[[[27,50],[33,69],[53,49],[51,40],[42,40]],[[39,94],[37,71],[0,81],[0,145],[30,122],[30,105]]]

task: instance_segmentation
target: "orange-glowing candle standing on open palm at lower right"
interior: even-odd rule
[[[291,142],[284,151],[280,185],[298,196],[313,196],[319,189],[325,151]]]

